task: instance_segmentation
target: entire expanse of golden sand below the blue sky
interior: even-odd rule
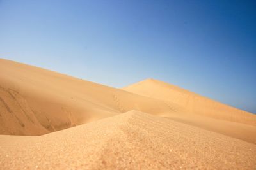
[[[0,169],[256,169],[256,115],[162,81],[0,59]]]

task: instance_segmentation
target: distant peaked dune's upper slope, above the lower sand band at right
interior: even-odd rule
[[[149,78],[139,83],[122,88],[143,96],[161,99],[166,103],[179,104],[187,113],[195,113],[206,117],[218,118],[242,124],[256,125],[256,117],[247,111],[233,108],[223,103],[213,101],[194,92],[170,85],[163,81]]]

